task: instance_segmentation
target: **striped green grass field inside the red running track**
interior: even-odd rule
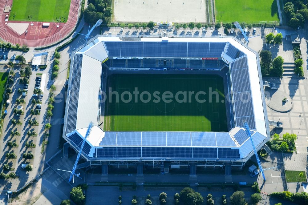
[[[10,20],[56,22],[56,17],[68,17],[71,0],[14,0]],[[16,13],[15,18],[13,14]],[[32,15],[32,18],[28,18]],[[63,18],[62,18],[63,16]],[[63,21],[62,21],[63,22]]]

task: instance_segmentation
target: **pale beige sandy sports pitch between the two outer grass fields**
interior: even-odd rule
[[[114,0],[113,22],[206,22],[206,0]]]

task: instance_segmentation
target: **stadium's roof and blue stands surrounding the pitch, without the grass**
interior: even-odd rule
[[[229,132],[103,131],[107,72],[183,70],[224,78]],[[233,37],[103,36],[75,50],[71,58],[63,138],[77,152],[90,122],[82,157],[91,166],[242,168],[254,155],[243,122],[258,149],[269,140],[258,54]]]

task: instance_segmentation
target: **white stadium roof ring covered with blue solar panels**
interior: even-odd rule
[[[101,63],[108,58],[222,58],[230,65],[236,127],[230,132],[104,132],[98,126],[94,126],[87,138],[87,148],[83,150],[89,157],[98,157],[98,153],[102,153],[100,149],[106,150],[108,148],[106,152],[109,155],[99,156],[120,157],[122,156],[121,152],[134,152],[136,155],[131,157],[140,158],[144,157],[141,153],[155,152],[141,151],[141,147],[143,150],[149,149],[145,147],[154,146],[166,149],[166,153],[171,153],[170,150],[173,148],[185,148],[185,150],[175,152],[178,154],[189,152],[191,155],[185,155],[189,158],[201,157],[194,152],[209,152],[212,154],[209,154],[208,157],[242,159],[253,151],[248,136],[241,128],[243,120],[247,120],[253,131],[256,147],[266,142],[269,131],[258,55],[238,40],[232,37],[178,37],[168,38],[168,41],[165,42],[159,37],[100,36],[77,50],[73,56],[68,88],[69,100],[66,105],[67,112],[64,123],[64,132],[71,143],[80,147],[80,140],[83,139],[89,122],[93,121],[96,125],[99,123]],[[242,98],[244,98],[244,102]],[[129,147],[133,150],[122,150]],[[140,147],[140,155],[137,147]],[[197,148],[211,149],[201,151],[196,150]],[[221,148],[229,150],[220,151]],[[213,154],[215,150],[216,156]],[[226,154],[225,157],[219,155],[220,152],[233,153],[234,150],[237,154]],[[117,155],[118,152],[120,153]],[[171,157],[170,155],[165,156],[163,153],[164,150],[162,150],[162,156]],[[146,156],[153,158],[157,154]],[[184,155],[179,154],[178,156],[183,157]]]

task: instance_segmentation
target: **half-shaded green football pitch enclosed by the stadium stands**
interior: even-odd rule
[[[223,79],[218,75],[113,74],[107,82],[118,92],[119,101],[115,94],[109,99],[107,93],[105,131],[227,131]],[[139,94],[133,93],[136,88]],[[163,100],[165,91],[173,98]]]

